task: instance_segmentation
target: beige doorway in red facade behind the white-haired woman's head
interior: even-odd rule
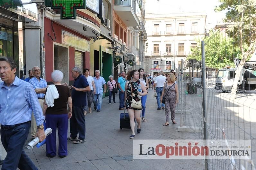
[[[63,72],[62,83],[69,84],[69,48],[54,45],[54,70]]]

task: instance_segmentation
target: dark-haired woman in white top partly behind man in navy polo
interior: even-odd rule
[[[96,93],[96,88],[95,88],[95,84],[94,84],[94,81],[93,81],[93,77],[92,76],[89,76],[89,69],[85,68],[83,73],[84,73],[84,76],[86,77],[87,81],[88,81],[88,84],[90,86],[90,89],[91,91],[87,91],[87,95],[86,95],[86,100],[87,100],[87,103],[88,103],[88,107],[89,107],[89,113],[92,113],[92,102],[93,102],[93,93],[95,94]],[[87,106],[85,106],[84,108],[84,115],[86,115],[87,113]]]

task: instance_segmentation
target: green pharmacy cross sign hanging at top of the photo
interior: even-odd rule
[[[86,9],[86,0],[51,0],[51,9],[60,9],[61,20],[75,20],[76,10]]]

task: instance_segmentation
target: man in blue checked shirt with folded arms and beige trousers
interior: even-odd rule
[[[32,68],[32,72],[34,77],[32,77],[29,80],[29,83],[32,84],[37,98],[38,98],[38,102],[41,106],[41,108],[43,108],[43,101],[44,101],[44,95],[45,95],[45,89],[47,87],[47,82],[42,79],[41,76],[41,70],[38,66],[34,66]],[[30,128],[30,134],[32,135],[32,138],[35,138],[36,136],[36,120],[34,117],[34,114],[32,114],[31,117],[31,128]]]

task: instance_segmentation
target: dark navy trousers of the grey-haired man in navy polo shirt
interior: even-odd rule
[[[83,111],[84,106],[72,106],[72,116],[69,119],[70,123],[70,137],[78,139],[85,139],[85,115]]]

